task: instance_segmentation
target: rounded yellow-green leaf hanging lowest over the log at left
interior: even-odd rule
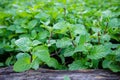
[[[21,58],[18,58],[17,62],[14,64],[13,70],[16,72],[23,72],[31,68],[30,55],[28,53],[22,54]]]

